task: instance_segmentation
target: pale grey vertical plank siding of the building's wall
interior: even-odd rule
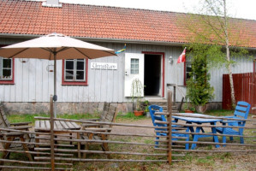
[[[17,39],[16,42],[20,42]],[[22,40],[23,41],[23,40]],[[0,44],[14,44],[14,39],[0,38]],[[121,50],[124,44],[95,43],[114,50]],[[182,47],[152,44],[127,44],[128,53],[141,53],[141,51],[165,53],[165,78],[164,92],[166,97],[166,84],[183,85],[184,64],[176,64],[178,56],[182,53]],[[172,56],[173,63],[168,62]],[[91,69],[91,62],[117,63],[117,70]],[[48,102],[53,94],[53,73],[46,71],[46,67],[53,64],[52,61],[30,59],[27,63],[21,63],[15,59],[15,85],[0,85],[0,99],[3,102]],[[128,102],[124,97],[124,53],[118,56],[110,56],[89,60],[88,85],[62,85],[62,61],[57,61],[57,96],[58,102]],[[246,73],[253,71],[252,61],[241,60],[234,73]],[[215,88],[215,98],[212,102],[222,102],[222,75],[225,69],[211,69],[211,85]],[[186,87],[180,89],[186,93]],[[162,90],[160,90],[162,92]],[[182,99],[182,93],[176,91],[176,101]]]

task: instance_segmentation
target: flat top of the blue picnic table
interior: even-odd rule
[[[187,121],[187,122],[194,122],[194,123],[211,123],[211,122],[223,121],[223,120],[217,119],[215,116],[211,116],[211,115],[196,114],[196,113],[178,113],[178,114],[183,115],[183,116],[172,115],[172,118],[177,119],[177,120]],[[194,116],[194,117],[189,117],[189,116]],[[202,116],[203,117],[211,117],[212,119],[199,118]]]

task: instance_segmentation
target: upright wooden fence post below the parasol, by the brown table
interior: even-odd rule
[[[53,99],[52,95],[50,97],[50,125],[51,125],[51,170],[55,170],[55,162],[54,162],[54,114],[53,114]]]

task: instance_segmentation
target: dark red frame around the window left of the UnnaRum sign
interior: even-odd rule
[[[63,83],[62,85],[88,85],[88,59],[86,61],[86,80],[85,81],[65,81],[64,72],[65,72],[65,60],[63,59]]]

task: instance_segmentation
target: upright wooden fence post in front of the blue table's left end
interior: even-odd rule
[[[171,110],[172,110],[172,92],[169,90],[167,91],[167,102],[168,102],[168,113],[167,121],[169,122],[169,130],[168,130],[168,162],[171,164]]]

